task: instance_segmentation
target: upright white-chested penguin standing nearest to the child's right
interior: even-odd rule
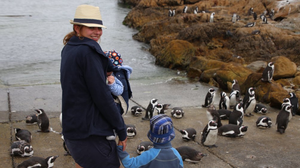
[[[217,147],[216,142],[217,142],[217,135],[218,135],[218,127],[217,127],[217,122],[214,120],[211,120],[208,122],[208,124],[205,126],[202,132],[202,138],[201,138],[201,143],[204,146],[207,147]]]

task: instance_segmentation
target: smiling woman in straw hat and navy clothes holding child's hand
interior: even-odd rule
[[[62,133],[76,167],[120,167],[116,141],[127,142],[126,125],[107,86],[109,58],[102,51],[99,7],[79,5],[73,32],[61,51]]]

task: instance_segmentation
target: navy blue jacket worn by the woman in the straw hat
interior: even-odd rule
[[[127,137],[126,125],[107,86],[109,58],[100,45],[76,36],[61,51],[62,134],[67,139],[90,135]]]

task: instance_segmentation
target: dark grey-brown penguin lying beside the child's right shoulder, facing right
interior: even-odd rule
[[[176,148],[176,150],[180,154],[183,161],[198,163],[201,161],[203,156],[206,156],[204,153],[201,153],[200,151],[188,146],[181,146]]]

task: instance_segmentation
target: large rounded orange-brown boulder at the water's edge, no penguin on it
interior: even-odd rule
[[[155,64],[171,69],[186,70],[191,58],[195,56],[195,48],[188,41],[173,40],[161,53],[162,55],[155,60]]]

